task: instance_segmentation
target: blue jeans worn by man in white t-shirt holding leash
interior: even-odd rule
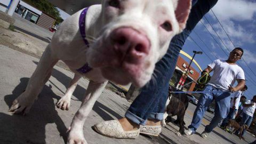
[[[212,85],[206,85],[204,91],[220,90]],[[196,132],[197,128],[201,124],[204,113],[213,100],[215,100],[215,113],[210,124],[205,126],[205,132],[211,132],[214,127],[216,127],[221,122],[221,119],[227,116],[230,107],[230,93],[204,93],[198,100],[192,122],[188,126],[188,128],[192,130],[193,133]]]

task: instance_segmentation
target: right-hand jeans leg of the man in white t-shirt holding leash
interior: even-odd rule
[[[209,125],[205,126],[205,132],[210,133],[220,123],[221,119],[226,117],[230,107],[230,93],[216,93],[215,99],[215,114]]]

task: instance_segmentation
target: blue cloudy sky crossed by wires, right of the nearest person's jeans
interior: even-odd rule
[[[251,99],[253,95],[256,95],[255,0],[219,0],[212,10],[197,23],[182,50],[191,56],[194,54],[193,51],[203,51],[202,55],[195,56],[195,60],[202,69],[205,69],[212,60],[227,60],[229,52],[234,47],[241,47],[244,50],[243,59],[238,63],[245,71],[248,86],[245,96]],[[182,58],[190,61],[186,57],[182,56]],[[199,71],[194,63],[191,66]]]

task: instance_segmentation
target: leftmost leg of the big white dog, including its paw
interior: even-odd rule
[[[43,89],[44,84],[51,76],[53,66],[57,63],[58,59],[51,51],[49,44],[40,59],[36,70],[30,77],[26,91],[23,92],[17,99],[12,102],[10,111],[14,114],[23,113],[26,115],[34,101],[37,99],[38,94]]]

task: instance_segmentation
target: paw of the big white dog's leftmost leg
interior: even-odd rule
[[[31,106],[33,105],[35,99],[26,97],[26,92],[23,92],[17,99],[12,102],[12,106],[9,111],[14,114],[26,115],[29,113]]]

